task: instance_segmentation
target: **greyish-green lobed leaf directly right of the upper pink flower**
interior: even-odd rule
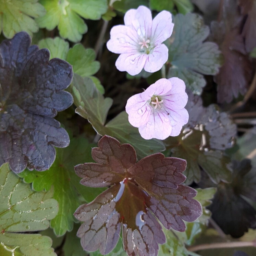
[[[168,78],[181,78],[198,95],[206,85],[203,75],[216,75],[223,62],[218,45],[203,42],[209,36],[209,31],[198,14],[178,14],[174,18],[172,36],[165,41],[171,63]]]

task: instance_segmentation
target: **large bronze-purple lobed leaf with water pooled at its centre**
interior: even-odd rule
[[[99,248],[101,254],[108,254],[122,227],[128,255],[154,256],[166,238],[153,214],[164,227],[178,231],[185,231],[183,220],[194,221],[202,214],[202,206],[193,199],[196,191],[180,185],[186,178],[181,173],[185,160],[157,153],[136,163],[134,148],[109,136],[102,137],[98,146],[92,150],[96,163],[75,167],[84,185],[112,185],[75,212],[75,217],[84,221],[77,236],[85,250]]]

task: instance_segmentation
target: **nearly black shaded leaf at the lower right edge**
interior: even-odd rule
[[[256,190],[256,172],[252,169],[251,162],[244,159],[241,162],[232,162],[232,182],[221,182],[208,209],[212,218],[225,234],[240,237],[248,228],[256,224],[255,209],[241,196],[246,196],[254,201]],[[204,180],[200,182],[203,185]]]

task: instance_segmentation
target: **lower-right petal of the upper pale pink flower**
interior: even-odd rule
[[[166,45],[159,45],[153,49],[153,52],[147,55],[144,69],[147,72],[154,73],[160,70],[168,60],[168,48]]]

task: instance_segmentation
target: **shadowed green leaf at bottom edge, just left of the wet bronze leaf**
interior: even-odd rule
[[[64,256],[87,256],[84,251],[80,238],[76,236],[80,224],[74,224],[74,229],[66,234],[65,243],[63,246]]]

